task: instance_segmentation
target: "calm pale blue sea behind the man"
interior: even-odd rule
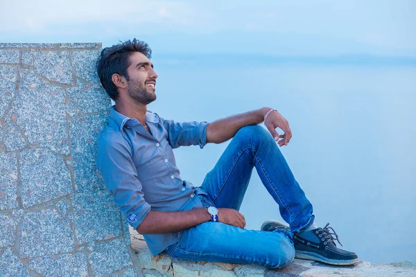
[[[361,260],[416,262],[416,66],[153,62],[159,79],[150,110],[212,121],[277,109],[293,132],[281,151],[316,223],[330,222]],[[182,179],[199,186],[227,144],[175,150]],[[241,213],[248,229],[281,220],[256,170]]]

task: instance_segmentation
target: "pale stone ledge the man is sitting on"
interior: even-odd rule
[[[153,257],[142,235],[131,231],[132,250],[137,257],[145,277],[184,277],[184,276],[218,276],[218,277],[327,277],[327,276],[416,276],[416,264],[399,262],[395,264],[372,264],[359,262],[355,266],[336,267],[320,262],[295,259],[291,265],[282,269],[267,269],[257,265],[227,264],[222,262],[181,262],[173,260],[162,253]]]

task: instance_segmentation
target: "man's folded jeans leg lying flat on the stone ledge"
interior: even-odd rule
[[[255,231],[221,222],[205,222],[182,231],[180,241],[166,249],[177,260],[232,262],[280,268],[293,261],[290,231]]]

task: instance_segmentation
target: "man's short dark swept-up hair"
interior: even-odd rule
[[[129,80],[127,69],[130,64],[128,58],[134,52],[140,52],[148,57],[148,59],[152,57],[152,49],[150,49],[146,42],[137,39],[130,41],[129,39],[120,44],[104,48],[96,60],[98,77],[105,91],[107,91],[113,100],[119,97],[119,91],[117,91],[117,87],[112,81],[112,75],[117,73],[124,76],[126,80]]]

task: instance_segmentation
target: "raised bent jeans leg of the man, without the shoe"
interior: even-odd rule
[[[259,125],[239,129],[200,190],[218,208],[239,210],[255,167],[270,195],[279,204],[281,217],[293,233],[313,223],[312,205],[293,177],[291,169],[272,139]]]

